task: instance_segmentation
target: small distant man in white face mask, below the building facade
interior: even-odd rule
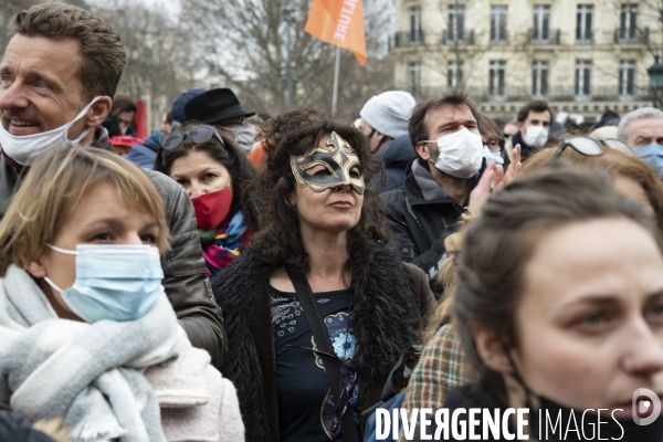
[[[516,125],[519,131],[513,136],[512,143],[514,146],[520,145],[523,158],[527,158],[548,143],[552,110],[547,102],[530,102],[518,112],[517,119]]]

